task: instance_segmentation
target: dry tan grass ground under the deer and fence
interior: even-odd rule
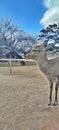
[[[12,69],[0,67],[0,130],[59,130],[59,105],[48,106],[44,74],[35,65]]]

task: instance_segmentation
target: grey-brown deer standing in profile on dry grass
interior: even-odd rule
[[[40,70],[46,75],[50,83],[50,94],[49,94],[49,103],[52,104],[52,92],[55,82],[55,102],[53,105],[58,104],[58,86],[59,86],[59,57],[54,59],[48,59],[46,49],[43,45],[36,45],[32,50],[26,55],[27,58],[36,60]]]

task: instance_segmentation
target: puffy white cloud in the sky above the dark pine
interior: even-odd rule
[[[59,0],[44,0],[44,5],[48,8],[40,23],[44,26],[59,22]]]

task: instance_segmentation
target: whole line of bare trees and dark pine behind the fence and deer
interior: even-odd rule
[[[24,58],[37,43],[53,51],[55,44],[59,44],[59,23],[49,25],[36,36],[20,29],[10,18],[0,18],[0,57]]]

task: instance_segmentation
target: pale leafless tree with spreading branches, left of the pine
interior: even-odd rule
[[[14,53],[15,50],[25,52],[28,47],[31,48],[36,44],[36,39],[36,36],[19,29],[10,18],[0,19],[0,47],[4,45],[10,51],[10,54]]]

